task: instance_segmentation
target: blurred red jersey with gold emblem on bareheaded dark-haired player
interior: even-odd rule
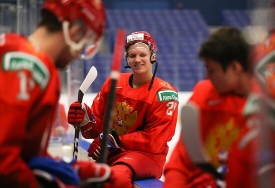
[[[233,94],[221,96],[209,80],[204,80],[195,85],[189,100],[200,109],[202,141],[212,165],[219,167],[225,164],[231,144],[245,122],[242,108],[246,97]],[[181,142],[180,139],[165,166],[164,188],[214,188],[213,178],[192,164]]]

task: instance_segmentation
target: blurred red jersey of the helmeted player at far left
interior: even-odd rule
[[[0,185],[32,188],[26,163],[44,155],[59,98],[54,62],[25,37],[0,35]]]

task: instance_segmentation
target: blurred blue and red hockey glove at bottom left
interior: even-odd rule
[[[66,188],[67,186],[64,185],[70,185],[72,188],[72,186],[78,186],[80,181],[81,185],[105,182],[111,174],[111,170],[106,164],[74,160],[66,163],[49,157],[34,157],[28,166],[40,185],[45,188],[53,186]]]

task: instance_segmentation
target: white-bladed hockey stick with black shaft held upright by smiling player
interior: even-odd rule
[[[94,66],[92,66],[78,90],[77,101],[80,104],[82,103],[84,93],[87,91],[90,84],[95,80],[96,76],[97,76],[97,70]],[[77,160],[80,126],[78,125],[78,126],[75,126],[74,128],[75,128],[75,131],[74,131],[74,144],[73,144],[73,154],[72,155],[73,155],[73,158],[75,160]]]

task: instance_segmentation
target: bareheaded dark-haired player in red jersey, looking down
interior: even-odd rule
[[[246,120],[242,109],[251,78],[248,49],[242,32],[229,26],[213,31],[199,49],[208,80],[194,86],[188,103],[195,103],[199,109],[203,146],[214,168],[226,165],[231,144]],[[223,184],[217,184],[211,174],[192,163],[181,138],[164,168],[164,176],[164,188],[217,188]]]

